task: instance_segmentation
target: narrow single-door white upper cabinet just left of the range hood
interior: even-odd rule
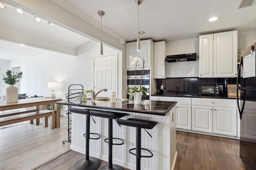
[[[166,42],[154,42],[154,78],[166,78]]]

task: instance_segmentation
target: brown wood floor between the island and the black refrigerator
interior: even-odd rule
[[[245,170],[239,140],[177,131],[175,170]]]

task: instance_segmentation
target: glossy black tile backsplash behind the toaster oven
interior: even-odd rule
[[[156,80],[156,89],[160,90],[163,85],[163,95],[199,95],[199,86],[222,85],[223,92],[220,92],[219,96],[227,97],[228,84],[236,84],[236,78],[166,78]]]

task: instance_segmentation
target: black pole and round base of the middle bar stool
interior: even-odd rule
[[[112,146],[113,146],[113,119],[108,119],[108,165],[102,166],[99,170],[124,170],[122,166],[113,164]]]

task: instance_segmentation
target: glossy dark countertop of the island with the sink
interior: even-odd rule
[[[76,101],[77,103],[68,103],[67,101],[56,102],[60,105],[68,106],[81,106],[86,108],[91,108],[92,110],[102,111],[122,111],[122,112],[134,112],[134,113],[144,113],[153,115],[166,115],[168,112],[176,105],[177,102],[163,102],[163,101],[150,101],[149,105],[144,104],[134,104],[134,101],[125,100],[122,102],[91,102],[86,101],[81,104],[82,101]],[[142,101],[144,103],[144,101]]]

